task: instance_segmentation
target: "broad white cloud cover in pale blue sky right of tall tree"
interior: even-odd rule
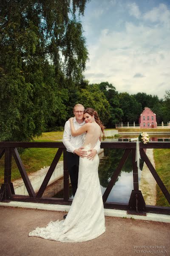
[[[142,91],[163,98],[170,78],[170,10],[160,4],[143,13],[135,3],[130,10],[131,15],[140,18],[137,23],[120,15],[121,29],[117,29],[116,23],[109,29],[105,25],[98,31],[99,37],[88,43],[90,61],[85,78],[90,83],[108,81],[119,92]],[[88,32],[94,38],[92,22],[89,20]]]

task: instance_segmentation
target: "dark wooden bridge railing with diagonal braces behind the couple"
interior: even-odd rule
[[[50,168],[40,186],[40,189],[37,193],[34,192],[34,189],[31,185],[31,182],[26,173],[26,169],[22,163],[20,155],[17,151],[17,148],[56,148],[56,155],[54,160],[51,163]],[[138,169],[135,162],[136,155],[136,143],[129,142],[102,142],[101,148],[122,148],[125,149],[124,154],[113,173],[113,177],[111,178],[108,187],[105,190],[103,195],[103,203],[105,208],[110,209],[124,209],[127,210],[127,213],[130,214],[139,214],[146,215],[146,212],[157,212],[161,214],[170,214],[170,207],[159,207],[159,206],[151,206],[146,205],[144,202],[144,198],[142,196],[142,192],[139,190],[138,183]],[[144,162],[147,164],[147,167],[150,169],[153,177],[158,183],[161,191],[163,192],[165,198],[170,204],[170,193],[167,188],[164,186],[161,178],[157,174],[154,169],[152,163],[148,159],[145,154],[144,148],[170,148],[169,142],[150,142],[147,145],[140,143],[140,154]],[[57,150],[58,149],[58,150]],[[133,190],[130,195],[129,203],[114,203],[114,202],[106,202],[111,189],[116,182],[119,173],[122,170],[122,167],[130,153],[132,151],[132,164],[133,164]],[[42,197],[43,192],[48,184],[48,181],[51,178],[52,173],[59,161],[59,158],[63,152],[64,159],[64,196],[63,198],[45,198]],[[72,200],[69,199],[69,175],[67,162],[65,157],[65,146],[63,143],[59,142],[32,142],[32,143],[24,143],[24,142],[1,142],[0,143],[0,158],[5,154],[5,163],[4,163],[4,183],[0,189],[0,201],[24,201],[24,202],[37,202],[37,203],[47,203],[47,204],[71,204]],[[23,178],[23,181],[26,185],[26,189],[28,191],[29,196],[24,195],[15,195],[13,183],[11,183],[11,159],[12,155],[14,160],[17,163],[20,174]]]

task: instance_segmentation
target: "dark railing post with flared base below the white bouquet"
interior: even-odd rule
[[[142,192],[139,190],[138,167],[135,160],[136,149],[132,149],[133,190],[130,195],[127,213],[135,215],[146,215],[146,205]]]

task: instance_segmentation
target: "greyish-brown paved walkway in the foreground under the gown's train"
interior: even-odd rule
[[[0,256],[170,255],[170,223],[163,222],[105,217],[106,232],[82,243],[28,236],[35,227],[44,227],[62,216],[63,212],[0,207]]]

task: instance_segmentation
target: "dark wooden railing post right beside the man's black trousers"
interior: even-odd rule
[[[69,199],[69,174],[66,159],[66,149],[63,150],[63,169],[64,169],[64,202],[68,202]]]

